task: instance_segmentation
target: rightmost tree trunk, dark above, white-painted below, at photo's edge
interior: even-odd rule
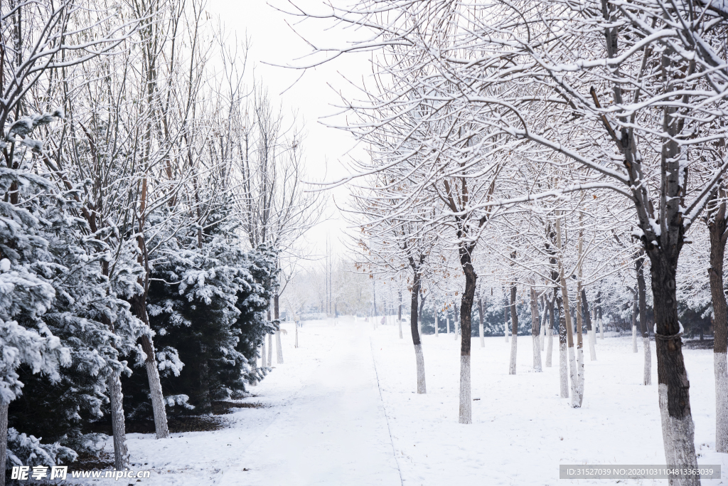
[[[724,189],[720,188],[721,196]],[[728,452],[728,306],[723,289],[723,260],[725,256],[728,223],[726,203],[716,205],[716,196],[708,206],[708,234],[711,240],[711,258],[708,277],[713,299],[713,368],[716,375],[716,452]]]

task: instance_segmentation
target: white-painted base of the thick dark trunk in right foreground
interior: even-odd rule
[[[665,385],[665,383],[660,383],[657,387],[657,395],[660,397],[665,463],[681,467],[697,467],[695,463],[695,424],[692,422],[692,417],[687,416],[680,419],[670,417],[668,412],[668,385]],[[700,477],[668,479],[668,485],[700,486]]]

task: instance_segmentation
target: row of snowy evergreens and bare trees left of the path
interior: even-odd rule
[[[162,439],[264,377],[323,198],[246,53],[197,0],[0,5],[0,471],[109,415],[123,469],[125,419]]]

